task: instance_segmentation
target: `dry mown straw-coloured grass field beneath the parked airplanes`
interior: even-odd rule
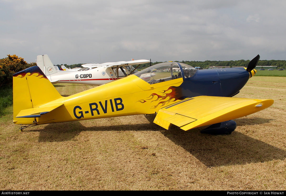
[[[55,85],[63,96],[93,86]],[[286,77],[252,77],[236,97],[274,99],[231,135],[150,123],[154,115],[38,125],[0,119],[1,190],[285,190]]]

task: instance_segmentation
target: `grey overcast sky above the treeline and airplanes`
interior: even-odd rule
[[[0,0],[0,58],[286,59],[286,1]]]

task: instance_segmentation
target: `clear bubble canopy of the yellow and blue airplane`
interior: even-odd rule
[[[178,78],[189,78],[196,73],[197,69],[194,67],[177,62],[165,62],[153,65],[134,75],[148,82],[149,84],[164,82]]]

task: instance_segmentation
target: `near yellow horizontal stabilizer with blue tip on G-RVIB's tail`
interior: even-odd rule
[[[41,115],[60,107],[61,105],[63,105],[63,103],[21,110],[16,118],[38,118],[41,117]]]

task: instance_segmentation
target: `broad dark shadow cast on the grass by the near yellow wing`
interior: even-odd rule
[[[238,126],[264,124],[271,120],[273,119],[257,117],[247,119],[247,121],[236,119]],[[231,135],[208,135],[199,132],[203,128],[192,129],[184,133],[176,127],[170,129],[169,132],[162,133],[207,167],[262,163],[286,158],[285,150],[238,131],[234,131]]]

